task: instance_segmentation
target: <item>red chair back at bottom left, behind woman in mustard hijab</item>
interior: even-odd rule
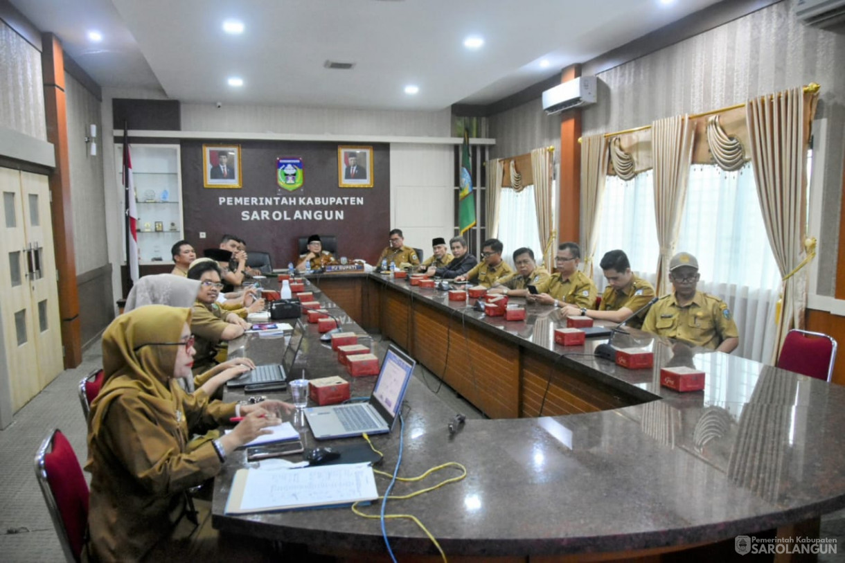
[[[88,525],[88,484],[74,448],[61,430],[52,429],[35,454],[35,478],[41,485],[65,559],[79,561]]]

